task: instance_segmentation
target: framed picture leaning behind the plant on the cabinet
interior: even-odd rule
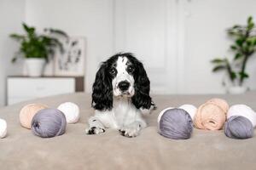
[[[84,76],[85,38],[69,37],[61,42],[64,53],[55,55],[55,76]]]

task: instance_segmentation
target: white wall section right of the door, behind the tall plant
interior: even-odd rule
[[[222,73],[212,73],[210,59],[230,57],[232,41],[225,30],[235,24],[246,24],[253,15],[256,22],[254,0],[196,0],[184,3],[184,63],[183,93],[205,94],[224,92]],[[256,55],[248,62],[250,74],[247,85],[256,89]],[[186,87],[186,88],[185,88]]]

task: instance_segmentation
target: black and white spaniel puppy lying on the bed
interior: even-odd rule
[[[147,127],[143,115],[154,109],[149,96],[150,82],[143,64],[132,54],[115,54],[103,62],[96,73],[87,134],[118,129],[126,137],[136,137]]]

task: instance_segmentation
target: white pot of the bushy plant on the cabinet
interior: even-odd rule
[[[30,58],[25,60],[27,76],[41,77],[43,75],[45,59]]]

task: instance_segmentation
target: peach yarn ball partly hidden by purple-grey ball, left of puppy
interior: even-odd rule
[[[20,124],[22,127],[26,127],[26,128],[31,128],[31,122],[32,122],[32,118],[33,116],[35,116],[35,114],[42,110],[42,109],[46,109],[47,106],[46,105],[42,105],[42,104],[29,104],[29,105],[25,105],[21,110],[20,110]]]

